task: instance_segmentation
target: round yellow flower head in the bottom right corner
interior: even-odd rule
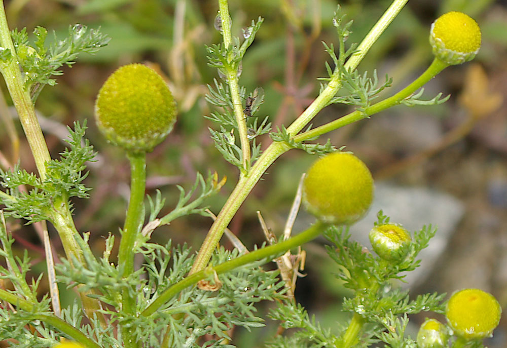
[[[493,295],[479,289],[465,289],[452,294],[446,317],[457,336],[481,339],[491,336],[500,322],[500,304]]]

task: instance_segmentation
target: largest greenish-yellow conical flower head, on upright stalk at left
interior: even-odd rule
[[[100,89],[95,119],[113,144],[133,152],[147,152],[172,130],[176,103],[155,70],[129,64],[113,72]]]

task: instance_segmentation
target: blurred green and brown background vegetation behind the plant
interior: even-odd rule
[[[309,105],[319,89],[316,78],[325,76],[329,60],[321,41],[336,43],[332,26],[338,3],[353,19],[348,43],[359,42],[390,4],[386,0],[230,0],[232,32],[259,16],[265,18],[256,41],[243,61],[240,84],[249,92],[264,88],[266,101],[259,118],[270,116],[274,127],[290,124]],[[76,23],[100,27],[110,44],[95,55],[82,55],[72,68],[64,68],[56,87],[41,93],[37,109],[52,156],[63,149],[65,125],[88,119],[87,137],[99,152],[89,166],[89,200],[76,200],[75,219],[80,231],[91,231],[97,252],[108,231],[118,234],[126,210],[129,190],[128,162],[120,149],[107,144],[93,121],[95,96],[107,76],[117,67],[142,62],[158,70],[167,80],[179,107],[175,130],[148,155],[147,194],[155,189],[166,198],[167,212],[177,201],[176,184],[191,187],[196,171],[216,171],[228,183],[219,196],[208,202],[216,214],[231,191],[238,173],[214,148],[202,115],[210,113],[204,100],[206,85],[218,78],[207,66],[205,45],[221,41],[213,29],[218,4],[215,0],[12,0],[5,1],[11,28],[37,25],[63,35]],[[360,64],[361,72],[377,69],[381,81],[387,73],[395,93],[417,76],[432,59],[427,42],[430,23],[440,14],[463,11],[474,17],[483,32],[483,44],[472,63],[448,68],[426,87],[431,98],[438,92],[451,99],[440,106],[397,107],[371,120],[329,134],[337,147],[347,145],[371,168],[377,182],[400,186],[423,186],[457,198],[463,218],[453,226],[448,246],[433,255],[439,267],[431,279],[413,289],[452,292],[462,287],[480,287],[507,303],[507,2],[493,0],[410,0]],[[5,86],[3,87],[6,94]],[[428,99],[429,99],[428,98]],[[9,97],[6,97],[8,104]],[[318,125],[340,117],[348,107],[333,105],[315,119]],[[22,134],[21,127],[17,131]],[[0,127],[2,153],[9,157],[13,145],[5,127]],[[21,164],[35,171],[28,145],[21,136]],[[320,139],[325,142],[325,138]],[[267,144],[269,138],[263,138]],[[264,146],[265,147],[265,146]],[[263,241],[257,220],[260,210],[268,226],[279,234],[292,204],[301,174],[315,158],[293,150],[280,158],[242,206],[230,229],[247,245]],[[427,223],[432,222],[427,217]],[[308,218],[309,219],[309,218]],[[393,217],[395,221],[395,217]],[[34,272],[44,272],[44,250],[30,226],[10,221],[16,230],[16,247],[27,248]],[[177,219],[160,227],[154,240],[187,242],[198,248],[211,220],[201,216]],[[298,226],[295,227],[295,230]],[[365,231],[366,233],[366,231]],[[53,245],[62,254],[57,236]],[[223,243],[228,245],[227,240]],[[340,298],[346,295],[329,270],[319,243],[306,247],[307,278],[298,281],[296,294],[311,313],[333,327]],[[141,260],[139,260],[141,261]],[[41,293],[45,289],[41,289]],[[70,294],[63,302],[71,301]],[[424,318],[418,318],[421,322]],[[417,322],[416,320],[416,322]],[[269,324],[269,323],[268,323]],[[495,331],[490,346],[504,346],[505,321]],[[266,331],[272,331],[268,329]],[[264,331],[263,331],[264,332]],[[262,336],[260,334],[259,336]],[[242,341],[242,347],[255,346]],[[249,336],[251,337],[251,336]]]

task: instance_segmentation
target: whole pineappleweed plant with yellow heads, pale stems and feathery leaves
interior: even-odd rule
[[[227,0],[219,0],[214,26],[223,42],[207,50],[209,65],[218,69],[222,81],[215,80],[214,86],[209,86],[207,100],[217,106],[217,111],[208,118],[219,126],[210,129],[216,148],[238,168],[239,178],[197,254],[185,245],[171,245],[170,240],[165,245],[152,243],[151,235],[157,227],[180,216],[209,216],[203,203],[220,190],[224,179],[216,173],[207,179],[198,175],[189,191],[179,188],[176,208],[163,216],[160,212],[164,199],[157,192],[155,197],[148,197],[150,214],[145,216],[146,153],[172,130],[176,107],[171,92],[154,70],[131,64],[113,73],[97,97],[95,119],[104,136],[125,150],[131,165],[130,200],[116,259],[111,257],[115,236],[106,238],[102,256],[96,257],[88,245],[89,235],[76,229],[71,214],[70,198],[87,198],[90,190],[83,180],[86,162],[93,160],[95,152],[83,139],[86,123],[75,123],[73,129],[68,129],[67,150],[52,159],[34,111],[41,89],[55,84],[52,76],[61,74],[62,65],[74,64],[80,53],[95,52],[109,38],[78,24],[69,27],[65,40],[51,44],[46,43],[46,29],[37,27],[35,41],[30,43],[26,30],[9,30],[0,2],[0,72],[38,169],[38,175],[19,166],[1,172],[5,191],[0,191],[0,199],[5,208],[0,214],[0,255],[5,265],[0,267],[0,275],[11,288],[0,289],[0,339],[24,347],[232,347],[234,339],[229,330],[234,326],[256,330],[264,325],[263,318],[255,315],[255,304],[272,300],[276,306],[269,317],[279,321],[280,327],[265,342],[270,347],[366,347],[378,340],[392,347],[481,346],[481,340],[492,334],[500,318],[496,299],[481,290],[467,289],[455,293],[446,307],[443,294],[410,299],[408,292],[392,289],[393,279],[402,279],[401,272],[417,267],[417,254],[436,229],[425,226],[410,234],[380,212],[370,234],[377,255],[350,241],[347,226],[364,215],[373,197],[371,174],[353,154],[335,148],[329,141],[309,142],[389,107],[447,100],[441,94],[422,100],[422,90],[416,92],[447,66],[477,54],[479,27],[462,13],[448,13],[433,24],[433,62],[419,78],[391,97],[374,103],[390,80],[379,86],[375,75],[369,78],[356,70],[406,3],[394,0],[364,40],[349,47],[345,46],[345,38],[351,22],[345,22],[344,15],[337,11],[333,20],[337,52],[334,45],[324,44],[332,60],[332,65],[326,63],[329,76],[321,79],[321,90],[305,111],[291,125],[275,132],[267,118],[258,121],[251,117],[262,104],[262,89],[247,93],[239,85],[242,58],[263,20],[252,21],[240,40],[231,32]],[[347,92],[345,96],[337,96],[341,89]],[[317,113],[332,103],[351,104],[355,110],[320,127],[308,127]],[[263,134],[269,134],[272,142],[261,151],[256,138]],[[218,248],[227,225],[251,189],[278,157],[293,148],[321,157],[302,182],[293,210],[297,212],[302,199],[317,221],[294,237],[289,231],[280,242],[266,228],[269,245],[250,252],[238,239],[234,250]],[[24,219],[43,231],[51,292],[42,299],[38,296],[41,278],[27,279],[28,257],[13,255],[14,239],[6,227],[6,217]],[[66,257],[56,266],[46,221],[58,231],[65,250]],[[338,334],[320,327],[294,298],[303,253],[298,253],[293,264],[295,255],[291,250],[322,234],[329,241],[328,253],[337,263],[339,278],[354,293],[344,299],[344,311],[352,317],[341,323]],[[139,268],[133,262],[137,254],[144,260]],[[276,261],[278,270],[260,267],[271,260]],[[57,283],[78,290],[80,300],[60,308]],[[448,324],[425,322],[415,341],[404,332],[408,315],[422,311],[446,313]],[[289,328],[296,330],[283,334]]]

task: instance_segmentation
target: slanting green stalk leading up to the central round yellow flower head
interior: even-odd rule
[[[157,299],[155,299],[155,301],[153,301],[141,313],[141,316],[147,317],[152,315],[153,313],[158,311],[159,308],[162,305],[164,305],[164,303],[167,303],[168,300],[177,295],[179,292],[181,292],[182,290],[186,289],[191,285],[196,284],[200,280],[208,277],[210,274],[216,273],[217,275],[220,275],[226,272],[230,272],[231,270],[243,266],[247,263],[259,261],[264,258],[271,259],[276,255],[286,252],[287,250],[291,250],[292,248],[295,248],[306,242],[311,241],[312,239],[319,236],[322,233],[322,231],[327,227],[328,224],[325,224],[323,222],[316,222],[307,230],[303,231],[302,233],[300,233],[295,237],[287,239],[286,241],[252,251],[248,254],[244,254],[233,260],[221,263],[214,267],[207,267],[205,269],[199,270],[199,272],[196,272],[188,276],[187,278],[183,279],[182,281],[179,281],[178,283],[174,284],[173,286],[165,290],[163,293],[161,293],[160,296],[157,297]]]

